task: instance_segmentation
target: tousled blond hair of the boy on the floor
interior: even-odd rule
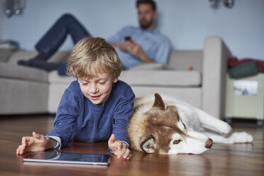
[[[104,38],[83,38],[72,49],[67,75],[78,78],[97,76],[99,73],[119,77],[123,64],[116,50]]]

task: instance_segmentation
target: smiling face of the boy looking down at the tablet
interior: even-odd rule
[[[117,80],[118,78],[113,78],[111,74],[101,73],[97,77],[78,79],[78,82],[82,94],[93,104],[101,106],[109,98],[112,85]]]

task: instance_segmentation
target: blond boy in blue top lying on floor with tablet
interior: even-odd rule
[[[67,70],[77,81],[62,96],[54,129],[47,136],[33,132],[23,137],[16,153],[60,149],[72,140],[109,139],[110,152],[129,160],[126,126],[135,95],[128,84],[118,80],[122,62],[114,48],[103,38],[84,38],[73,48]]]

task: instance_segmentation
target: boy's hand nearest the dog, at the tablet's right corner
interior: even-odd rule
[[[129,160],[131,158],[131,152],[127,148],[126,143],[122,141],[116,141],[114,134],[111,135],[108,141],[109,148],[113,151],[117,158],[123,157],[123,159]]]

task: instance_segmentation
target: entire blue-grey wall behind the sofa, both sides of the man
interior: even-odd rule
[[[0,0],[1,1],[1,0]],[[209,0],[156,0],[158,29],[176,49],[202,49],[207,35],[220,35],[233,55],[264,60],[264,1],[235,0],[232,9]],[[109,38],[121,27],[137,26],[135,0],[26,0],[22,16],[6,20],[6,38],[33,50],[62,13],[72,13],[94,36]],[[0,21],[1,22],[1,21]],[[72,48],[70,38],[62,50]]]

